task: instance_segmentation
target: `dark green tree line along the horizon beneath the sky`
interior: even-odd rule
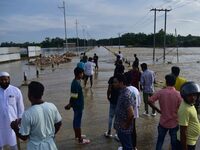
[[[158,33],[155,34],[156,47],[163,47],[164,41],[164,31],[161,29]],[[153,47],[154,34],[145,34],[145,33],[125,33],[120,37],[109,38],[109,39],[78,39],[77,38],[68,38],[68,43],[74,43],[76,46],[117,46],[124,45],[126,47]],[[77,42],[78,41],[78,42]],[[45,38],[41,43],[35,42],[25,42],[25,43],[14,43],[14,42],[3,42],[1,47],[23,47],[27,48],[28,46],[40,46],[42,48],[48,47],[63,47],[65,40],[59,37],[56,38]],[[166,34],[166,46],[167,47],[200,47],[200,37],[192,36],[191,34],[187,36],[178,35],[175,37],[173,34]]]

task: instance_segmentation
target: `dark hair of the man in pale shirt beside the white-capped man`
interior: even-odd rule
[[[40,99],[40,98],[42,98],[42,95],[44,93],[44,86],[40,82],[32,81],[28,85],[28,91],[29,91],[29,94],[31,97]]]

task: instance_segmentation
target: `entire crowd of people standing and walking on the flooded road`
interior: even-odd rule
[[[118,150],[136,150],[136,120],[139,118],[143,99],[144,116],[155,117],[156,112],[160,114],[156,150],[162,150],[167,132],[171,138],[172,150],[195,150],[200,135],[197,116],[199,85],[180,77],[180,68],[173,66],[171,72],[165,76],[165,87],[155,91],[154,71],[150,70],[146,63],[140,64],[136,54],[134,57],[132,69],[125,72],[122,53],[119,51],[116,55],[115,69],[108,79],[109,115],[108,129],[104,136],[111,138],[114,127],[114,136],[121,143]],[[89,78],[90,88],[92,88],[94,70],[98,69],[96,53],[89,58],[86,53],[83,53],[74,69],[69,103],[64,108],[73,109],[73,130],[78,144],[91,142],[81,130],[84,110],[81,80],[86,87]],[[53,103],[42,100],[44,89],[42,83],[30,82],[28,98],[31,107],[24,111],[21,91],[10,85],[9,73],[0,72],[0,150],[3,150],[5,145],[9,145],[11,150],[18,150],[18,138],[28,139],[28,150],[57,149],[54,137],[62,125],[62,117]],[[157,101],[158,105],[156,105]],[[149,106],[152,108],[151,114]]]

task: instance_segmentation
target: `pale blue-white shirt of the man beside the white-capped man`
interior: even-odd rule
[[[53,103],[33,105],[22,116],[19,133],[29,135],[27,150],[57,150],[54,124],[62,120]]]

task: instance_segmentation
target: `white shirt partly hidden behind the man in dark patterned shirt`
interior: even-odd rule
[[[141,97],[140,97],[140,92],[138,91],[138,89],[134,86],[128,86],[127,87],[131,92],[133,92],[135,94],[136,97],[136,104],[135,104],[135,108],[134,108],[134,118],[139,118],[139,107],[141,104]]]

